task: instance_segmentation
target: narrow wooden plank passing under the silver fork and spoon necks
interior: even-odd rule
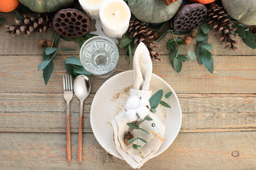
[[[89,113],[95,94],[84,101]],[[256,113],[256,94],[178,94],[182,113]],[[171,104],[172,105],[172,104]],[[64,112],[63,94],[0,94],[1,112]],[[70,111],[79,113],[79,99],[74,95]]]

